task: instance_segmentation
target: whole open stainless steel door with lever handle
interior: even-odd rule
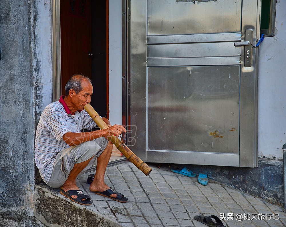
[[[258,2],[130,6],[132,150],[147,162],[257,166]]]

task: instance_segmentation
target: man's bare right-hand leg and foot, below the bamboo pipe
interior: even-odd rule
[[[111,153],[112,153],[112,143],[108,142],[108,145],[104,149],[102,154],[100,154],[100,156],[97,157],[96,173],[94,176],[94,180],[90,185],[90,191],[103,192],[110,189],[110,187],[108,187],[108,185],[104,182],[104,173],[108,165]],[[116,194],[110,195],[110,197],[114,198],[116,198],[116,196],[117,196]]]

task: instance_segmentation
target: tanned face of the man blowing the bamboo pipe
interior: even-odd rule
[[[75,109],[84,110],[84,106],[91,101],[92,93],[92,84],[90,81],[83,80],[82,91],[80,91],[78,94],[74,92],[72,97],[72,103]]]

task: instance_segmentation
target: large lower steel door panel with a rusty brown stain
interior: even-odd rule
[[[239,71],[148,67],[147,150],[238,154]]]

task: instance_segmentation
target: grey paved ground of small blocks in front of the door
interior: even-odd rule
[[[124,194],[127,203],[92,193],[86,183],[90,173],[79,177],[78,185],[93,201],[88,209],[122,226],[206,227],[194,220],[195,215],[225,216],[222,221],[229,227],[286,226],[286,214],[280,206],[218,183],[203,186],[196,177],[150,166],[153,170],[149,176],[129,162],[106,169],[106,183]]]

